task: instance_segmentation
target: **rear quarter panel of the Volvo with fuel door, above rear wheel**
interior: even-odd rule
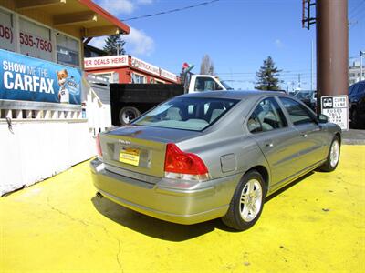
[[[238,104],[235,110],[205,130],[202,136],[186,139],[178,146],[201,157],[213,179],[235,174],[243,176],[255,166],[266,167],[270,177],[266,158],[255,140],[247,136],[244,130],[245,117],[250,109]]]

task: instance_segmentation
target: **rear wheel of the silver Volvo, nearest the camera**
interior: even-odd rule
[[[245,230],[255,225],[261,215],[266,196],[263,177],[255,170],[249,171],[235,188],[228,211],[222,220],[228,227]]]

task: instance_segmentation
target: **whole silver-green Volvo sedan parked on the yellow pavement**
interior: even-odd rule
[[[244,230],[265,197],[339,163],[341,129],[293,96],[214,91],[177,96],[98,136],[99,195],[151,217],[194,224],[222,217]]]

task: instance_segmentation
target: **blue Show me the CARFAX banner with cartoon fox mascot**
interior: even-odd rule
[[[81,104],[81,71],[0,49],[0,99]]]

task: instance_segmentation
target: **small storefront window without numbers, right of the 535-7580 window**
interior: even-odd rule
[[[78,40],[67,35],[57,35],[57,62],[68,66],[79,66]]]

